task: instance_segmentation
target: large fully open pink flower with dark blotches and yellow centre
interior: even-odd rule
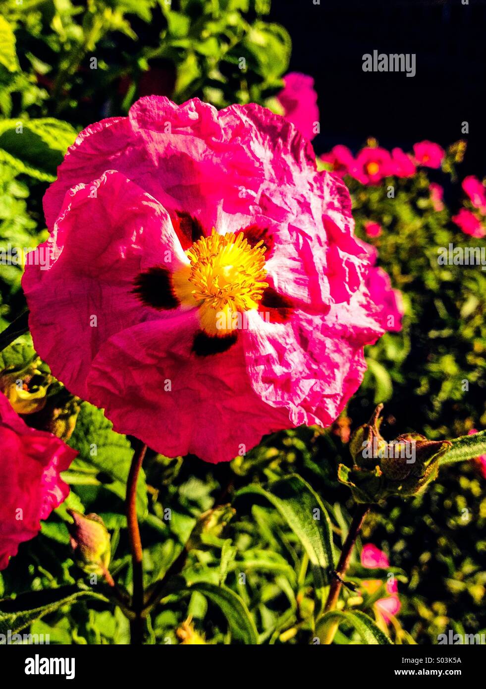
[[[282,116],[140,99],[79,134],[44,207],[34,345],[116,431],[221,462],[330,425],[359,387],[377,269],[346,186]]]

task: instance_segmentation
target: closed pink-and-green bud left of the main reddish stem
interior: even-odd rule
[[[103,520],[91,513],[82,515],[67,510],[73,522],[68,524],[76,564],[88,574],[106,577],[110,559],[110,535]]]

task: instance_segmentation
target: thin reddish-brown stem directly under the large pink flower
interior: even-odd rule
[[[143,643],[144,620],[143,610],[143,567],[142,567],[142,541],[137,519],[137,480],[142,467],[143,458],[147,452],[147,445],[138,442],[134,456],[131,460],[130,471],[127,480],[127,509],[128,537],[131,550],[131,566],[133,571],[134,593],[131,598],[131,609],[135,618],[130,624],[131,644]]]

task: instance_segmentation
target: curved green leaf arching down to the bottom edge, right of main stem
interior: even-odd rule
[[[197,582],[189,586],[190,591],[197,590],[217,605],[226,617],[231,636],[242,644],[258,644],[255,622],[246,607],[244,600],[226,586],[214,586],[207,582]]]

